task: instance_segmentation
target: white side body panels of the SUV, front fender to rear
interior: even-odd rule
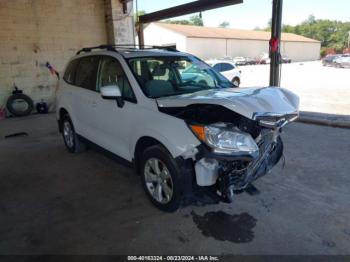
[[[81,54],[75,58],[90,55]],[[137,80],[120,54],[100,51],[94,55],[108,55],[119,60],[131,85],[136,87],[133,91],[137,104],[126,102],[119,108],[115,101],[105,100],[99,93],[70,85],[61,78],[57,91],[58,119],[60,109],[65,109],[79,135],[130,162],[136,143],[142,137],[156,138],[174,157],[200,144],[183,120],[159,113],[157,101],[147,98],[137,88]]]

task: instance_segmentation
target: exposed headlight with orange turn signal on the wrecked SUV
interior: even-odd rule
[[[215,153],[255,153],[259,151],[250,134],[240,131],[226,123],[207,126],[191,125],[196,136],[213,149]]]

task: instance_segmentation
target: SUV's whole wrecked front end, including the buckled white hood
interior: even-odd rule
[[[198,186],[225,202],[267,174],[283,155],[282,128],[298,117],[299,99],[267,87],[162,98],[163,113],[183,119],[202,143],[192,158]]]

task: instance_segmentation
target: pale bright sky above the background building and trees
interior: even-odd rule
[[[138,10],[147,13],[181,5],[194,0],[135,0]],[[215,0],[213,0],[215,1]],[[136,8],[135,8],[136,11]],[[266,27],[271,18],[272,0],[243,0],[243,4],[213,9],[202,13],[205,26],[216,27],[227,21],[231,28]],[[283,24],[296,25],[309,15],[316,19],[350,21],[350,0],[284,0]],[[186,19],[189,16],[176,19]]]

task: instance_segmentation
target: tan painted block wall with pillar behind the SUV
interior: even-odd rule
[[[132,1],[0,1],[0,109],[14,84],[34,102],[54,106],[57,77],[79,49],[134,43]]]

